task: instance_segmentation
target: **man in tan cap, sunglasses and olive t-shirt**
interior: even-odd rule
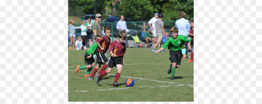
[[[99,24],[99,22],[101,21],[101,18],[102,18],[101,14],[95,15],[95,23],[92,25],[92,31],[93,31],[92,40],[95,40],[95,35],[99,35],[99,36],[103,37],[102,29],[101,29],[101,26]]]

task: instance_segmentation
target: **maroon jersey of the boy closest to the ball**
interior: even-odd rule
[[[109,46],[109,51],[112,51],[115,57],[120,57],[125,54],[126,44],[120,43],[117,40],[112,42]]]

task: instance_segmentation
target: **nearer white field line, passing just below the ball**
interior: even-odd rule
[[[169,87],[169,86],[181,86],[181,85],[167,85],[167,86],[138,86],[136,88],[154,88],[154,87]],[[122,90],[122,89],[128,89],[128,88],[133,88],[133,87],[126,87],[126,88],[110,88],[110,89],[100,89],[100,90],[92,90],[92,91],[104,91],[104,90]],[[88,92],[88,90],[84,90],[84,91],[70,91],[70,92]],[[68,93],[70,93],[68,92]]]

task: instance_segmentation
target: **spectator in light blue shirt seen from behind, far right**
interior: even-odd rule
[[[187,36],[189,30],[190,30],[190,23],[188,20],[185,19],[185,12],[180,12],[179,14],[179,20],[176,20],[176,27],[178,28],[178,35]],[[187,50],[187,44],[188,42],[185,42],[185,47]],[[187,52],[189,52],[187,50]],[[186,54],[187,54],[186,52]]]

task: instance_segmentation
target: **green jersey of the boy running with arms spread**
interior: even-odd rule
[[[162,47],[165,49],[168,46],[168,50],[179,51],[179,50],[183,49],[185,42],[190,42],[191,39],[192,38],[187,37],[187,36],[177,35],[176,40],[174,40],[171,37],[167,40],[167,42],[165,42],[165,44]]]

